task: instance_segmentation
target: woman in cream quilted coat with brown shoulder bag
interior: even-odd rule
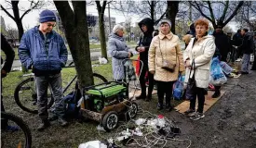
[[[157,109],[163,109],[163,100],[166,95],[166,109],[170,111],[172,86],[178,80],[179,73],[184,70],[184,65],[180,39],[170,31],[170,21],[162,19],[158,26],[159,34],[150,44],[148,66],[157,83]]]

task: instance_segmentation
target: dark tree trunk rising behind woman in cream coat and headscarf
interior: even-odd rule
[[[179,1],[168,1],[167,18],[170,19],[170,31],[172,31],[173,34],[175,34],[175,19],[179,11],[179,3]]]

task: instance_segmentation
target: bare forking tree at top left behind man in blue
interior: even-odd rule
[[[7,7],[4,7],[1,5],[2,10],[7,14],[7,16],[10,19],[13,19],[17,25],[18,31],[19,31],[19,39],[21,39],[24,29],[22,25],[22,19],[30,13],[33,9],[38,9],[44,6],[44,1],[40,0],[29,0],[30,2],[30,7],[25,9],[24,7],[19,7],[20,1],[6,1]],[[13,16],[7,11],[7,9],[12,9],[13,11]],[[20,11],[23,11],[23,13],[20,15]]]

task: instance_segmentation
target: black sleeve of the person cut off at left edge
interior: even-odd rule
[[[5,36],[1,33],[1,50],[6,54],[6,62],[2,69],[9,72],[11,70],[11,66],[13,63],[13,59],[15,56],[14,50],[10,46],[10,44],[7,42],[7,39]],[[4,60],[1,56],[1,65],[4,63]]]

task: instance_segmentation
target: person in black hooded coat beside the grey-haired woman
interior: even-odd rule
[[[154,88],[154,75],[148,72],[148,50],[149,50],[150,43],[153,39],[154,21],[149,18],[142,19],[139,22],[139,27],[141,28],[142,34],[141,34],[139,45],[135,47],[135,50],[140,53],[140,59],[143,62],[143,67],[142,68],[140,67],[141,95],[136,97],[136,99],[145,99],[145,101],[150,101],[152,99],[152,92]],[[148,72],[148,80],[149,80],[147,97],[146,97],[146,84],[145,84],[146,72]]]

